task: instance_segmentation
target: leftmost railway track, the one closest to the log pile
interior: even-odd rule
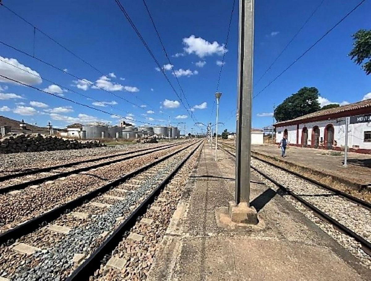
[[[174,147],[182,145],[186,142],[163,145],[155,148],[145,148],[137,151],[128,151],[125,153],[108,155],[104,157],[98,157],[83,161],[77,161],[72,163],[66,163],[61,165],[55,165],[52,167],[45,167],[39,169],[33,169],[23,171],[20,173],[4,175],[0,177],[0,194],[7,193],[13,190],[20,190],[30,185],[37,185],[45,181],[56,180],[58,178],[66,177],[72,174],[78,174],[81,172],[89,171],[105,165],[118,163],[134,157],[142,156],[148,153],[159,151],[164,148]],[[109,160],[108,160],[109,159]],[[108,161],[104,161],[108,160]],[[93,165],[90,163],[96,162]],[[88,164],[88,165],[87,165]]]

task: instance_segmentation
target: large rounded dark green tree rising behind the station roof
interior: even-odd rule
[[[303,87],[276,107],[274,116],[278,122],[294,119],[321,109],[316,87]]]

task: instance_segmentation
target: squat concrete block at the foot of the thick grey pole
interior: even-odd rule
[[[228,202],[229,217],[234,223],[257,224],[257,212],[250,208],[247,203],[236,205],[234,201]]]

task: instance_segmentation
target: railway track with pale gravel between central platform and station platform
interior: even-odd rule
[[[221,149],[235,157],[231,151],[234,147],[221,145]],[[371,256],[369,203],[254,156],[251,164],[254,171],[305,205],[317,217],[353,238]],[[282,173],[286,173],[285,176]]]

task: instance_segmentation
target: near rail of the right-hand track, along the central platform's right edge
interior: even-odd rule
[[[224,151],[232,155],[233,157],[236,157],[232,152],[226,150],[225,148],[221,147]],[[260,160],[260,159],[259,159]],[[270,164],[270,163],[268,163]],[[350,230],[348,227],[345,225],[339,223],[337,220],[334,218],[330,217],[328,214],[324,213],[323,211],[319,210],[317,207],[315,207],[313,204],[309,203],[299,195],[293,193],[289,188],[286,188],[284,185],[278,183],[276,180],[273,178],[269,177],[268,175],[264,174],[262,171],[259,171],[257,168],[250,166],[254,171],[265,177],[267,180],[271,181],[275,185],[277,185],[281,190],[285,191],[287,194],[291,195],[294,197],[296,200],[304,204],[307,208],[312,210],[319,218],[322,220],[327,221],[328,223],[334,225],[338,230],[342,231],[343,233],[347,234],[349,237],[353,238],[355,241],[357,241],[359,244],[362,245],[362,248],[365,250],[365,252],[371,256],[371,243],[367,240],[365,240],[363,237],[359,236],[357,233],[354,231]]]

